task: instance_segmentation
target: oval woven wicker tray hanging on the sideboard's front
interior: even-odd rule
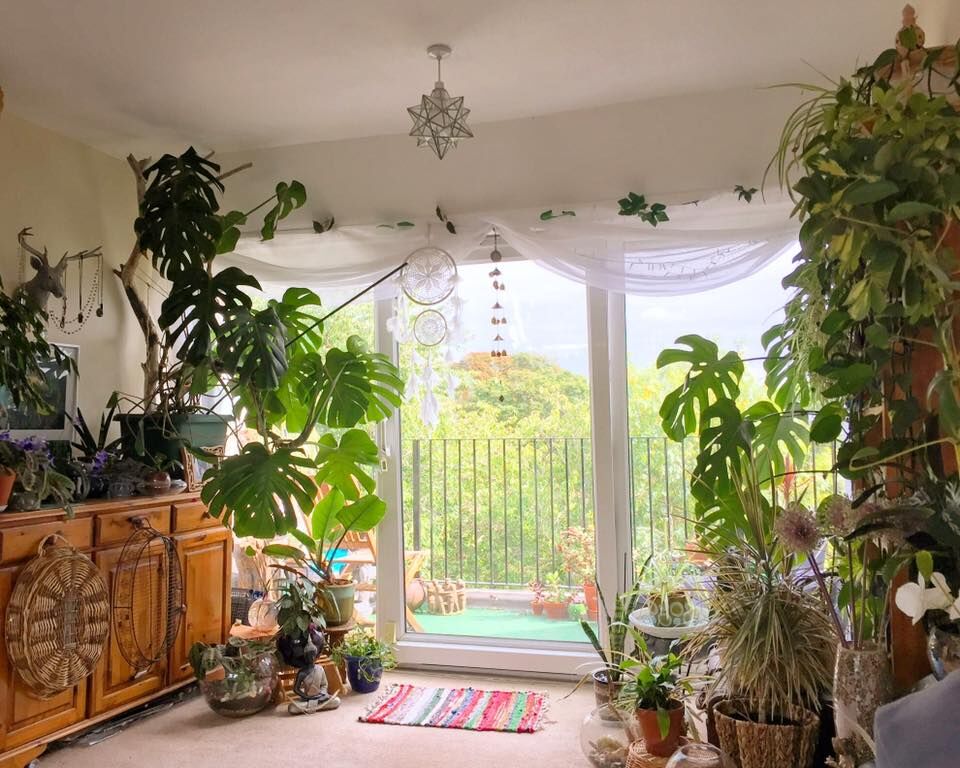
[[[93,671],[109,632],[110,598],[100,571],[62,536],[47,536],[7,606],[12,666],[34,694],[48,699]]]

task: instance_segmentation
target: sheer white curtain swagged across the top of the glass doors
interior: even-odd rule
[[[648,198],[651,199],[651,198]],[[655,198],[652,198],[655,199]],[[668,201],[664,201],[668,202]],[[457,215],[457,234],[436,220],[410,228],[346,226],[318,235],[281,233],[269,242],[243,238],[218,259],[256,275],[268,291],[290,285],[362,287],[427,244],[458,263],[480,249],[495,228],[524,258],[577,282],[630,294],[697,293],[739,280],[797,249],[792,203],[776,197],[753,202],[724,194],[669,204],[656,228],[619,216],[616,202],[555,207],[576,216],[541,221],[542,209]],[[396,292],[393,281],[377,296]]]

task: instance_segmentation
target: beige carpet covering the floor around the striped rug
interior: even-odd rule
[[[40,758],[41,768],[584,768],[580,722],[593,689],[570,698],[566,683],[477,675],[395,672],[387,682],[537,690],[550,697],[543,730],[534,734],[477,733],[360,723],[377,694],[347,694],[340,709],[291,717],[283,708],[231,720],[191,699],[131,725],[92,747],[74,746]],[[372,698],[373,697],[373,698]]]

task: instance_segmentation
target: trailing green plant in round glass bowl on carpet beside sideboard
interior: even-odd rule
[[[279,665],[270,642],[231,637],[225,645],[194,643],[190,666],[210,709],[246,717],[266,707],[279,685]]]

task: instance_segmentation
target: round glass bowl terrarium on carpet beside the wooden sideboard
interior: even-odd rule
[[[225,657],[222,665],[200,680],[210,709],[225,717],[254,715],[267,706],[280,684],[280,665],[273,653]]]

